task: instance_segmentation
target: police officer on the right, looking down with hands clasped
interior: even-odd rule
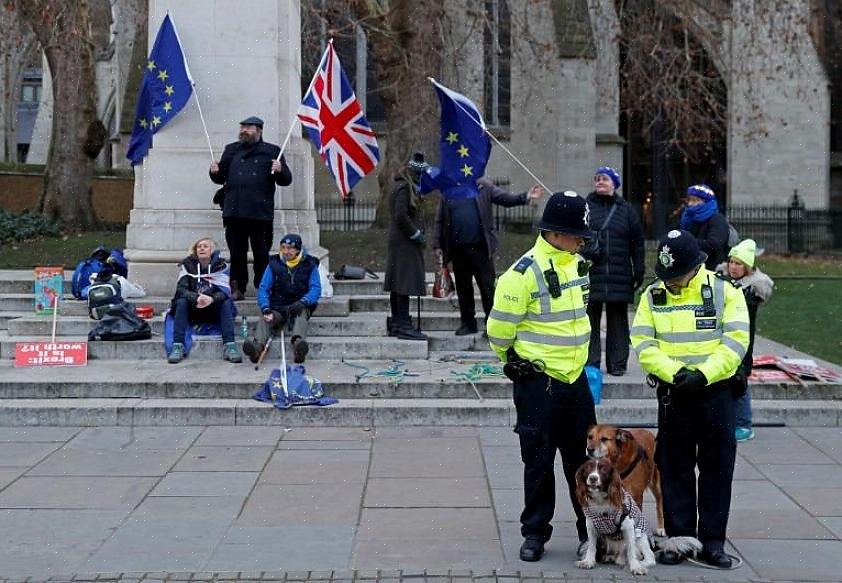
[[[698,538],[701,559],[728,568],[734,392],[741,384],[734,376],[748,348],[748,310],[739,289],[705,268],[706,255],[689,232],[667,233],[656,259],[659,279],[640,298],[631,342],[658,385],[655,461],[667,536]],[[684,559],[672,551],[659,558],[665,564]]]

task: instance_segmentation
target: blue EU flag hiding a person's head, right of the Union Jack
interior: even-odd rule
[[[421,191],[439,189],[445,198],[474,198],[485,174],[491,140],[479,108],[467,97],[430,79],[441,103],[440,167],[422,177]]]

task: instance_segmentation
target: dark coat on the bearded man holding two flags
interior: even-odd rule
[[[234,142],[225,146],[219,172],[209,173],[216,184],[225,185],[222,218],[271,221],[275,212],[275,185],[292,184],[292,172],[281,156],[281,171],[272,174],[272,160],[281,149],[260,140],[254,145]]]

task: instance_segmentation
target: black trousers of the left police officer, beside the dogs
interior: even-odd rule
[[[549,389],[549,390],[548,390]],[[514,383],[517,410],[515,432],[520,437],[523,460],[524,508],[520,515],[520,532],[524,538],[546,542],[553,527],[555,511],[556,451],[561,464],[570,502],[576,514],[579,540],[586,540],[585,515],[576,500],[576,470],[587,459],[588,427],[596,423],[593,396],[588,380],[581,374],[567,384],[539,374],[535,378]]]

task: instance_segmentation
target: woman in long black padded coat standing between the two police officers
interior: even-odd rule
[[[606,314],[605,368],[608,374],[622,376],[629,360],[629,304],[634,290],[643,284],[644,235],[637,211],[616,193],[620,174],[602,166],[594,175],[594,191],[587,196],[593,243],[585,258],[593,261],[588,316],[591,344],[588,364],[599,368],[602,346],[600,323]]]

